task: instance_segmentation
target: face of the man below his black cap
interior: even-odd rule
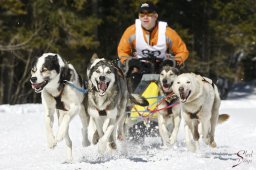
[[[142,11],[139,13],[141,25],[147,30],[150,30],[155,26],[157,17],[158,14],[156,12]]]

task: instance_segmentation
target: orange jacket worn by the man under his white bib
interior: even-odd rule
[[[151,32],[151,35],[150,32],[146,31],[145,29],[143,29],[143,34],[145,41],[147,41],[146,35],[148,35],[150,37],[150,45],[156,45],[158,40],[158,24]],[[175,60],[179,64],[183,63],[189,55],[186,44],[182,41],[176,31],[168,26],[166,28],[165,36],[167,49],[169,49],[169,52],[172,51],[172,53],[175,55]],[[134,52],[135,47],[136,27],[135,24],[133,24],[125,30],[118,45],[117,51],[121,63],[124,63],[124,61],[127,60],[129,56],[133,56],[132,52]]]

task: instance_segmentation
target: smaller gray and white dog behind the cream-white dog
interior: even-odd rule
[[[160,69],[160,78],[158,82],[159,95],[165,96],[159,108],[166,108],[158,111],[158,127],[159,133],[164,146],[171,146],[176,142],[177,134],[180,127],[180,105],[178,97],[172,91],[172,85],[177,78],[179,70],[171,65],[168,61],[164,61]],[[168,108],[168,106],[173,107]]]

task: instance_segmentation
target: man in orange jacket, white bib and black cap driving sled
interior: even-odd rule
[[[148,62],[143,62],[141,58],[155,58],[155,62],[159,63],[167,58],[167,53],[175,55],[178,65],[189,54],[180,36],[166,22],[158,22],[156,7],[150,2],[142,3],[139,19],[125,30],[118,45],[118,56],[121,63],[127,65],[127,76],[134,79],[133,86],[136,87],[143,73],[150,71]]]

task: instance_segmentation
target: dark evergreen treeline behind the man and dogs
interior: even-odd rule
[[[1,0],[0,104],[39,102],[31,89],[35,56],[55,52],[84,77],[94,52],[116,57],[119,39],[134,23],[137,0]],[[160,20],[183,38],[184,71],[231,82],[256,77],[255,0],[153,1]]]

